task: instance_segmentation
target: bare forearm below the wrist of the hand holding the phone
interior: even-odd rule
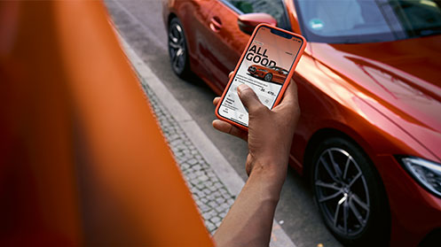
[[[214,235],[217,246],[268,246],[286,171],[256,167]]]

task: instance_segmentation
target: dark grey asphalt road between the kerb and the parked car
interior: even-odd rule
[[[161,1],[106,1],[106,5],[120,34],[246,180],[244,164],[248,154],[247,143],[211,127],[211,121],[216,119],[211,102],[216,95],[201,80],[183,81],[171,71]],[[282,190],[275,218],[298,247],[318,246],[319,243],[323,246],[342,246],[321,221],[308,185],[292,169]]]

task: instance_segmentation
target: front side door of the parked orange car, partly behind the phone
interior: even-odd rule
[[[278,20],[278,27],[290,29],[285,6],[281,0],[216,0],[209,14],[209,47],[205,65],[209,68],[210,80],[224,89],[230,73],[239,61],[247,45],[249,35],[240,31],[238,18],[240,14],[265,12]]]

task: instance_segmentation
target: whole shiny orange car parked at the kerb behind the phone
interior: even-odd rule
[[[303,35],[290,164],[327,228],[356,246],[439,246],[439,1],[170,0],[163,20],[174,72],[218,94],[257,24]]]

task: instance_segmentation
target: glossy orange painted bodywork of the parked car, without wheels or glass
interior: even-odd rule
[[[293,31],[301,34],[293,1],[285,5]],[[237,25],[238,13],[218,0],[171,1],[164,5],[166,25],[170,16],[191,27],[185,32],[192,70],[220,94],[249,38]],[[200,18],[198,27],[194,18]],[[224,28],[210,30],[213,19]],[[392,246],[416,246],[441,228],[441,199],[394,158],[441,161],[440,43],[440,35],[362,44],[309,42],[293,76],[302,116],[290,164],[303,174],[304,158],[328,135],[358,143],[389,197]]]

